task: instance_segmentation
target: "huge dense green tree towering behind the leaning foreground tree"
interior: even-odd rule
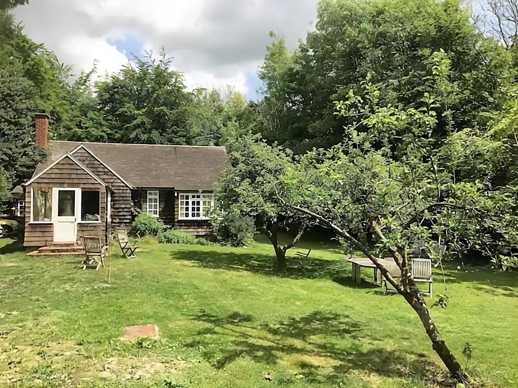
[[[455,87],[449,105],[437,112],[437,137],[487,127],[484,114],[501,109],[503,86],[515,72],[509,53],[477,31],[460,0],[324,0],[315,30],[295,52],[287,54],[282,39],[268,48],[260,71],[261,130],[298,154],[328,148],[341,142],[344,126],[359,122],[336,115],[333,101],[350,89],[362,96],[361,84],[370,78],[387,104],[408,106],[432,93],[434,85],[426,82],[430,55],[441,50]]]

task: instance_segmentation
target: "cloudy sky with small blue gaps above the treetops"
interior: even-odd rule
[[[24,32],[44,43],[74,72],[97,63],[98,77],[132,54],[163,46],[189,88],[231,85],[257,98],[257,68],[271,42],[290,49],[314,28],[317,0],[30,0],[14,14]]]

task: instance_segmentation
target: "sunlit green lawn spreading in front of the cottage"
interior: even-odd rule
[[[114,248],[107,286],[107,269],[0,244],[0,385],[421,387],[443,371],[402,298],[354,287],[333,248],[313,244],[306,272],[281,274],[264,243],[149,243],[131,260]],[[447,270],[450,303],[431,313],[459,357],[471,344],[481,385],[516,387],[516,273],[466,270]],[[161,340],[118,339],[144,323]]]

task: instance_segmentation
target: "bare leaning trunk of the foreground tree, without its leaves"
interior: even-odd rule
[[[445,344],[442,339],[437,326],[434,321],[431,319],[428,308],[426,307],[426,302],[419,292],[419,290],[415,287],[415,283],[413,281],[411,272],[408,271],[406,266],[406,252],[403,252],[404,255],[401,257],[397,257],[398,255],[394,255],[394,259],[398,266],[401,268],[401,274],[405,279],[402,279],[402,284],[397,282],[392,275],[389,273],[387,268],[380,263],[377,257],[372,255],[372,252],[368,247],[363,245],[361,242],[356,240],[353,236],[351,236],[347,231],[340,229],[338,226],[334,225],[334,223],[328,221],[324,217],[319,214],[316,214],[304,207],[293,206],[295,210],[304,213],[315,220],[321,221],[324,225],[331,228],[336,234],[345,238],[349,243],[355,246],[357,249],[361,250],[365,253],[372,263],[376,265],[378,270],[382,273],[385,279],[391,283],[392,287],[394,287],[397,292],[402,295],[407,303],[414,309],[414,311],[418,314],[421,323],[423,324],[424,329],[426,330],[426,334],[431,341],[431,347],[435,350],[435,352],[439,355],[440,359],[444,363],[444,366],[448,368],[452,376],[458,381],[468,385],[469,375],[463,370],[462,365],[457,361],[455,355],[450,351],[448,346]],[[397,253],[397,252],[394,252]],[[405,264],[405,265],[402,265]]]

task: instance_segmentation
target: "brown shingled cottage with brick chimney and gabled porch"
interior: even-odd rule
[[[49,152],[25,189],[24,246],[104,241],[127,229],[136,210],[197,236],[210,233],[212,188],[224,147],[48,141],[49,116],[36,114],[36,144]]]

